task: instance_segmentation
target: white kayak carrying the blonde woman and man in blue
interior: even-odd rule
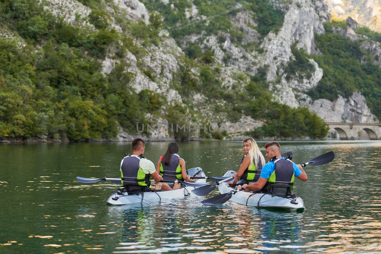
[[[224,176],[232,176],[235,171],[227,171]],[[234,188],[230,187],[227,183],[221,183],[218,185],[219,192],[221,194],[229,193]],[[267,193],[254,193],[254,192],[236,192],[232,195],[231,199],[234,202],[243,204],[246,206],[266,207],[266,208],[281,208],[288,210],[303,210],[304,202],[296,195],[289,196],[277,196]]]

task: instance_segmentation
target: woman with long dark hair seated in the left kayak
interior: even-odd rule
[[[171,142],[168,149],[157,162],[156,172],[163,177],[163,180],[180,180],[186,182],[195,182],[188,176],[185,169],[185,161],[178,155],[179,145]],[[196,175],[197,176],[197,175]]]

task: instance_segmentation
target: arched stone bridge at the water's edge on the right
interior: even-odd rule
[[[341,140],[348,139],[381,139],[381,123],[329,123],[330,131],[335,130]],[[368,134],[364,135],[364,132]]]

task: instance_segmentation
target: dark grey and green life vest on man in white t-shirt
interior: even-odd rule
[[[122,186],[128,186],[128,190],[142,189],[151,184],[151,176],[140,168],[139,162],[142,158],[146,159],[142,154],[127,155],[120,162]]]

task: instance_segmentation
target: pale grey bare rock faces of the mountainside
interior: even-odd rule
[[[86,21],[86,16],[90,13],[88,8],[80,3],[72,0],[55,1],[51,2],[51,11],[55,14],[64,15],[67,22],[74,22],[73,24],[81,26],[91,26]],[[169,1],[162,1],[164,4],[171,5]],[[149,3],[149,2],[146,2]],[[316,49],[314,36],[315,34],[324,33],[323,22],[330,20],[331,16],[328,13],[330,10],[327,5],[323,3],[323,0],[301,0],[298,2],[283,2],[272,1],[272,3],[281,8],[284,11],[283,26],[277,32],[270,32],[264,38],[258,34],[254,27],[257,26],[255,22],[255,13],[250,10],[242,8],[242,4],[236,3],[232,9],[236,10],[235,14],[230,14],[231,22],[233,26],[243,31],[243,41],[241,45],[245,45],[251,42],[261,42],[258,50],[246,50],[243,46],[237,45],[231,41],[231,36],[228,33],[219,33],[217,35],[193,34],[182,38],[179,45],[170,37],[168,32],[163,30],[162,40],[163,43],[160,46],[151,46],[147,48],[147,54],[144,58],[139,59],[140,66],[137,66],[138,60],[132,53],[128,53],[125,57],[125,61],[130,63],[128,68],[129,72],[135,74],[134,80],[131,85],[137,90],[150,89],[157,93],[166,93],[168,102],[178,102],[182,104],[182,98],[178,92],[169,87],[169,84],[174,78],[173,73],[177,72],[179,65],[182,64],[183,50],[186,48],[189,42],[198,42],[203,51],[210,49],[215,56],[215,65],[219,65],[221,68],[220,80],[227,89],[231,88],[232,84],[240,83],[244,81],[237,80],[237,73],[242,75],[255,75],[259,67],[267,67],[267,81],[272,85],[270,89],[274,92],[274,99],[290,105],[291,107],[307,106],[311,111],[316,112],[325,121],[330,122],[342,122],[352,121],[352,118],[356,121],[373,123],[375,116],[370,112],[365,98],[359,93],[354,93],[349,98],[339,97],[334,102],[330,102],[326,99],[319,99],[312,101],[312,99],[305,93],[309,89],[317,86],[320,79],[323,76],[323,70],[319,68],[318,64],[309,59],[314,66],[314,72],[310,78],[303,77],[302,80],[291,79],[286,80],[285,66],[288,62],[294,58],[291,52],[291,47],[296,44],[296,47],[303,49],[307,54],[319,54]],[[151,3],[155,5],[155,3]],[[157,3],[156,3],[157,4]],[[137,21],[139,19],[144,22],[148,21],[149,13],[143,3],[138,0],[122,1],[114,0],[108,3],[111,16],[126,14],[127,19],[131,21]],[[328,7],[331,2],[328,1]],[[117,8],[111,8],[116,6]],[[173,8],[173,4],[171,5]],[[63,11],[65,10],[65,11]],[[114,11],[117,10],[117,11]],[[123,12],[122,12],[123,11]],[[78,19],[78,15],[80,18]],[[192,5],[185,11],[186,19],[189,22],[197,22],[202,19],[206,19],[205,16],[200,15],[197,10],[197,6]],[[81,21],[78,24],[78,20]],[[77,21],[77,23],[75,23]],[[118,28],[118,24],[112,19],[112,27]],[[347,29],[337,31],[353,40],[360,39],[361,36],[355,34],[354,29],[349,26]],[[224,40],[218,38],[223,37]],[[362,43],[363,48],[367,48],[374,54],[380,54],[379,43],[365,41]],[[229,61],[224,64],[224,58],[229,56]],[[379,58],[378,61],[381,61]],[[117,61],[113,60],[112,54],[107,57],[103,62],[104,73],[109,73],[115,66]],[[142,70],[149,69],[157,77],[155,80],[151,80],[142,73]],[[194,69],[197,75],[198,70]],[[280,82],[279,82],[280,79]],[[208,98],[202,96],[202,94],[195,93],[192,101],[195,110],[201,110],[203,116],[210,121],[221,121],[227,123],[227,119],[224,115],[216,115],[205,104],[208,102]],[[328,112],[328,114],[327,114]],[[355,112],[353,114],[353,112]],[[243,131],[252,129],[253,120],[249,123],[243,121],[242,118],[239,123],[240,126],[247,126],[246,128],[237,129],[234,136],[240,136]],[[158,130],[152,133],[150,139],[163,140],[171,139],[168,134],[167,122],[164,119],[158,119]],[[242,125],[243,124],[243,125]],[[259,125],[261,125],[259,123]],[[161,130],[161,131],[160,131]],[[131,139],[127,133],[120,132],[118,140]]]

